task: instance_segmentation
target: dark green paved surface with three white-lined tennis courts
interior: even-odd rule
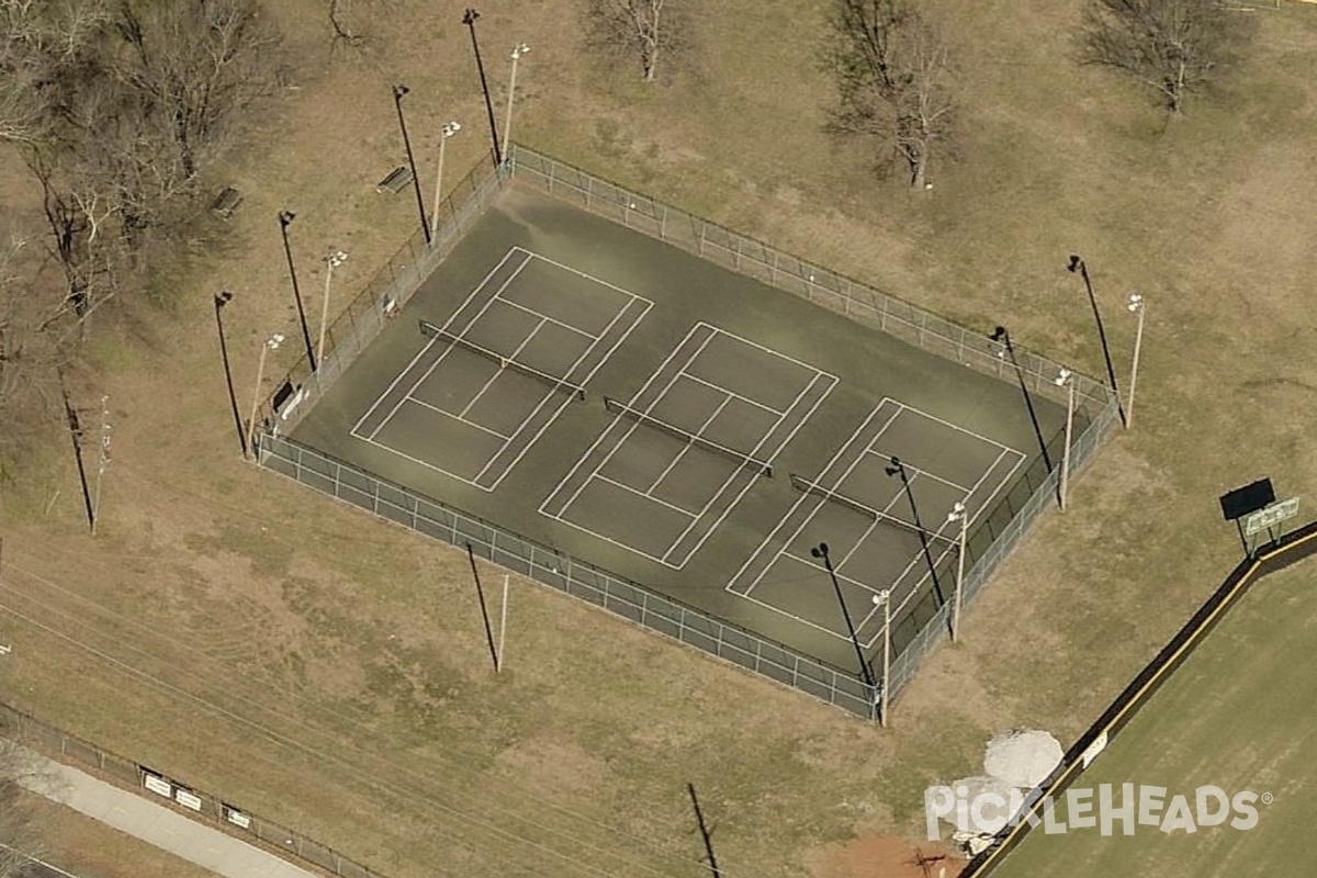
[[[1015,384],[519,187],[292,438],[843,669],[810,548],[900,650],[1039,454]]]

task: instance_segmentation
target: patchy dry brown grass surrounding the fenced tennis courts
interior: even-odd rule
[[[391,83],[412,90],[419,151],[458,118],[449,167],[474,161],[461,7],[358,0],[367,43],[332,51],[323,3],[269,5],[292,87],[213,178],[246,201],[158,266],[154,311],[97,325],[78,376],[79,403],[108,395],[115,430],[97,536],[54,429],[0,494],[5,698],[82,737],[390,878],[706,874],[687,783],[726,875],[886,874],[846,845],[907,837],[913,854],[926,785],[975,771],[1004,728],[1072,740],[1217,584],[1238,554],[1218,494],[1260,475],[1317,488],[1312,9],[1241,13],[1256,29],[1241,65],[1168,125],[1072,63],[1077,0],[930,0],[961,58],[965,133],[935,188],[911,194],[820,130],[819,0],[705,4],[681,71],[655,88],[582,53],[582,3],[489,0],[499,92],[506,51],[532,45],[518,140],[950,317],[1006,324],[1089,374],[1101,351],[1067,254],[1092,270],[1122,369],[1125,296],[1148,300],[1135,429],[1044,517],[892,729],[527,582],[495,678],[462,554],[240,459],[211,311],[233,291],[246,396],[259,340],[295,338],[277,212],[298,213],[304,290],[328,249],[349,251],[340,303],[410,233],[406,194],[374,192],[403,158]]]

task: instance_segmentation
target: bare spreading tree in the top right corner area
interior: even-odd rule
[[[1218,0],[1090,0],[1080,59],[1114,67],[1154,88],[1167,112],[1210,82],[1225,61],[1231,28]]]

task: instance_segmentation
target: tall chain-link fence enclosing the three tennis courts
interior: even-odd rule
[[[349,332],[344,333],[344,337],[350,338],[352,344],[340,348],[344,355],[336,362],[321,366],[327,376],[341,373],[350,358],[374,338],[389,301],[394,303],[391,307],[400,307],[404,301],[402,297],[390,299],[390,296],[410,296],[428,271],[446,255],[485,211],[499,188],[508,182],[516,182],[578,204],[593,213],[657,237],[740,274],[757,278],[952,362],[1004,380],[1018,380],[1030,394],[1060,401],[1068,392],[1055,383],[1062,371],[1055,361],[1018,346],[1006,350],[982,332],[954,324],[907,301],[552,157],[523,146],[511,146],[510,150],[503,168],[495,168],[489,162],[482,163],[468,175],[468,183],[462,190],[465,197],[457,201],[449,200],[448,237],[443,241],[436,238],[432,251],[425,251],[424,244],[419,241],[420,236],[415,236],[408,247],[395,258],[400,265],[398,267],[391,265],[387,270],[389,282],[378,288],[367,287],[367,291],[357,297],[357,301],[365,303],[362,308],[374,308],[371,313],[375,315],[375,323],[363,316],[356,321],[349,319]],[[420,251],[416,250],[417,246]],[[408,266],[407,258],[415,262]],[[371,290],[375,292],[370,292]],[[344,317],[340,317],[336,325],[342,321]],[[300,367],[304,371],[306,363]],[[313,392],[323,392],[327,380],[329,379],[321,376]],[[1084,467],[1102,438],[1118,424],[1119,408],[1115,395],[1102,383],[1077,374],[1072,376],[1072,382],[1076,421],[1076,436],[1071,445],[1073,474]],[[478,554],[510,570],[605,607],[619,616],[824,702],[861,716],[873,716],[876,694],[859,679],[855,670],[844,670],[803,656],[792,648],[672,600],[640,583],[622,579],[537,545],[279,436],[287,429],[275,428],[294,415],[290,411],[290,401],[295,400],[291,401],[291,408],[309,407],[313,401],[313,395],[299,388],[300,386],[290,376],[283,391],[284,401],[267,409],[263,420],[266,430],[258,442],[258,459],[262,465],[420,533],[457,546],[470,544]],[[279,420],[275,420],[274,409],[282,412],[278,415]],[[1034,519],[1054,500],[1059,478],[1055,461],[1060,459],[1063,441],[1060,436],[1054,437],[1047,453],[1035,458],[1009,486],[1006,494],[976,519],[965,553],[964,606],[973,602],[996,567],[1029,530]],[[938,570],[935,577],[944,583],[951,582],[952,563],[954,559],[946,561],[943,563],[946,569]],[[892,631],[894,661],[889,678],[893,696],[914,677],[923,656],[950,632],[951,606],[943,592],[944,590],[926,588],[909,595],[905,603],[896,608]]]

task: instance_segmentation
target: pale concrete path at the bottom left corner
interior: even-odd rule
[[[120,832],[227,878],[320,878],[271,853],[212,829],[134,792],[29,752],[20,783]]]

